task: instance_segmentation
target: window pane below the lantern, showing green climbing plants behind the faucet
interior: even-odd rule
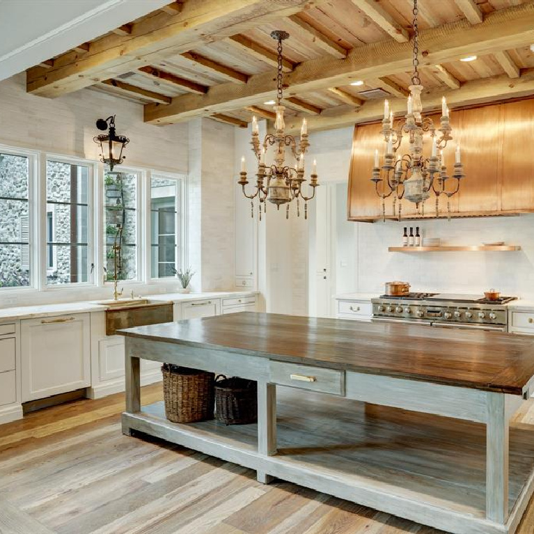
[[[136,280],[137,179],[134,172],[107,172],[104,179],[107,280]]]

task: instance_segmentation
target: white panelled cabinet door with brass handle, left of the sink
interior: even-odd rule
[[[22,401],[91,385],[89,313],[21,321]]]

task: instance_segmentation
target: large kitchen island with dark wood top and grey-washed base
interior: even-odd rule
[[[125,434],[458,534],[515,532],[533,493],[534,425],[512,418],[534,387],[531,337],[265,313],[119,333]],[[139,359],[256,380],[258,424],[141,407]],[[277,385],[292,386],[278,404]]]

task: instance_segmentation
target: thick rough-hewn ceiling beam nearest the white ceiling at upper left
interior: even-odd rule
[[[91,42],[80,58],[68,52],[56,58],[54,68],[26,72],[29,93],[57,97],[91,86],[102,79],[157,63],[206,42],[226,39],[286,17],[325,0],[187,0],[181,13],[157,10],[135,24],[134,33],[110,33]]]

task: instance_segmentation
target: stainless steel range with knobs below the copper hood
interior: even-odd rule
[[[517,297],[488,301],[480,295],[408,293],[372,299],[372,321],[427,324],[432,327],[507,331],[505,304]]]

